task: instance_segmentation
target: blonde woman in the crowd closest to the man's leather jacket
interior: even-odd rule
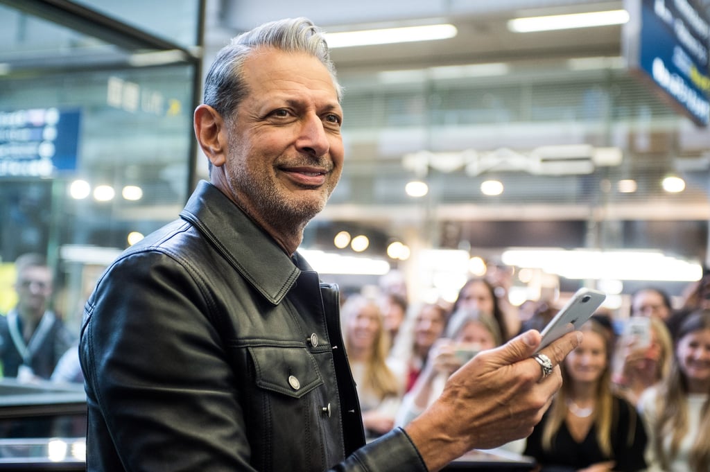
[[[403,388],[386,363],[389,339],[379,304],[352,295],[341,317],[366,436],[372,439],[393,429]]]

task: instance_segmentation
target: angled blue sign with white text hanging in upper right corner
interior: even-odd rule
[[[630,66],[701,126],[710,123],[709,21],[691,0],[643,0],[626,35]],[[638,43],[633,44],[638,41]]]

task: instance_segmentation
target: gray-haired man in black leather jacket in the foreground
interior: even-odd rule
[[[219,52],[195,110],[209,182],[86,305],[89,472],[435,471],[540,421],[578,334],[537,359],[537,331],[477,356],[430,410],[365,444],[337,287],[297,252],[342,172],[341,95],[305,18]]]

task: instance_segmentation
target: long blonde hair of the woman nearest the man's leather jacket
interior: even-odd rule
[[[387,366],[386,358],[389,351],[389,339],[385,332],[383,314],[380,306],[362,295],[351,295],[343,304],[341,313],[341,326],[347,329],[347,322],[363,309],[373,309],[377,312],[377,331],[371,349],[366,359],[365,381],[367,388],[376,393],[379,398],[400,395],[400,383],[394,373]],[[350,337],[346,332],[344,337],[345,350],[350,347]]]

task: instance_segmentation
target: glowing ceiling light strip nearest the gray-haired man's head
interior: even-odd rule
[[[344,31],[343,33],[326,33],[328,47],[349,48],[351,46],[366,46],[389,43],[411,43],[414,41],[429,41],[453,38],[457,35],[456,26],[450,24],[407,26],[404,28],[385,28],[378,30]]]

